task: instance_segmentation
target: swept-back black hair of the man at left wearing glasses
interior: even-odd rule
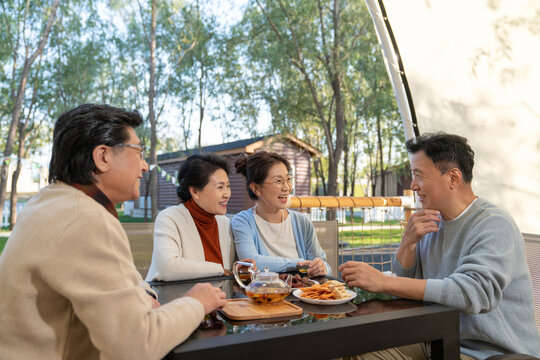
[[[138,111],[109,105],[83,104],[64,112],[54,125],[49,183],[95,183],[93,174],[98,170],[92,158],[94,149],[126,142],[127,128],[142,122]]]

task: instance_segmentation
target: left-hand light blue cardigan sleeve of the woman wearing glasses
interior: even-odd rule
[[[250,210],[247,210],[250,211]],[[283,272],[295,268],[296,263],[303,261],[300,258],[284,258],[271,256],[261,243],[255,220],[251,220],[247,211],[236,215],[231,221],[236,254],[239,259],[251,258],[255,260],[257,268],[268,267],[271,271]]]

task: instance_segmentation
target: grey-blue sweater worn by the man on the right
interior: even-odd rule
[[[523,237],[502,209],[476,199],[418,242],[415,265],[403,268],[394,257],[393,266],[398,276],[428,279],[424,301],[461,311],[463,354],[540,356]]]

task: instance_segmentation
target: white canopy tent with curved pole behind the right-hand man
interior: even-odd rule
[[[366,0],[407,138],[475,150],[475,193],[540,234],[540,2]],[[386,16],[385,16],[386,14]]]

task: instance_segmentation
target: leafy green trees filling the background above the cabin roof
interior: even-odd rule
[[[405,161],[399,114],[362,0],[251,0],[226,26],[216,1],[60,2],[28,73],[19,130],[26,136],[13,154],[41,151],[54,119],[88,102],[139,110],[145,123],[137,134],[150,147],[155,3],[155,152],[202,145],[209,122],[225,139],[260,135],[269,114],[264,132],[291,133],[323,152],[312,166],[319,195],[354,194],[361,177],[373,190],[378,173]],[[0,4],[2,134],[14,113],[25,46],[37,46],[53,3]],[[2,149],[5,142],[2,136]]]

